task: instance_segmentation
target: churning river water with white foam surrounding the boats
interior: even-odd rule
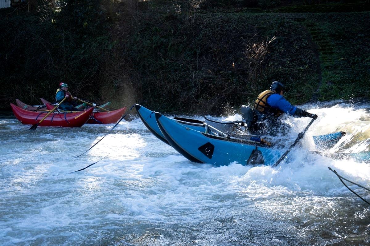
[[[319,118],[275,169],[190,162],[138,117],[73,159],[114,124],[28,131],[2,115],[0,245],[370,245],[370,206],[328,169],[369,188],[369,159],[313,153],[312,140],[345,131],[329,152],[369,152],[370,104],[302,108]],[[286,118],[285,148],[309,120]]]

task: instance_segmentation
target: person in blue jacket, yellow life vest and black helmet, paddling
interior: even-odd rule
[[[275,81],[272,82],[270,90],[265,90],[258,95],[254,104],[255,111],[253,127],[251,129],[253,132],[275,135],[278,132],[289,130],[289,125],[278,120],[279,116],[283,113],[292,115],[293,117],[317,118],[316,114],[310,114],[290,104],[283,97],[284,91],[284,84]]]

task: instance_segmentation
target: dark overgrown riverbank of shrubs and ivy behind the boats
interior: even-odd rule
[[[53,100],[59,82],[114,107],[185,113],[238,109],[275,80],[293,104],[369,98],[370,12],[283,2],[69,0],[8,18],[3,9],[0,107]],[[369,7],[357,4],[346,6]]]

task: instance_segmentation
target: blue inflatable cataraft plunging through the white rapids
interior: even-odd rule
[[[138,104],[136,110],[152,134],[192,162],[211,163],[216,166],[231,162],[272,165],[284,152],[272,148],[272,144],[260,136],[240,135],[242,121],[168,118]],[[345,132],[336,132],[313,138],[316,146],[324,149],[325,146],[332,147],[344,134]]]

